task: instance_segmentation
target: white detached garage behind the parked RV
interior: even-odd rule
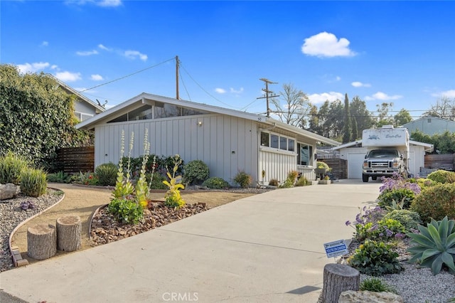
[[[348,162],[348,179],[362,178],[363,160],[367,154],[367,148],[362,147],[362,140],[349,142],[333,147],[340,152],[340,158]],[[425,153],[433,151],[433,144],[410,140],[409,171],[412,176],[418,176],[420,168],[424,168]]]

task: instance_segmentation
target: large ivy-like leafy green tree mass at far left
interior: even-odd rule
[[[73,97],[48,75],[0,65],[0,156],[13,151],[49,169],[58,148],[90,143],[74,127]]]

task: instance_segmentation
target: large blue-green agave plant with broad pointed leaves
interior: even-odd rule
[[[439,274],[444,264],[455,274],[455,220],[448,220],[447,216],[440,221],[432,219],[427,227],[418,228],[420,233],[407,234],[414,244],[407,249],[412,255],[410,262],[430,267],[433,275]]]

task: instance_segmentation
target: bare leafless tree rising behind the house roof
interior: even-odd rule
[[[308,96],[301,90],[297,90],[293,84],[284,84],[280,97],[272,98],[274,115],[287,124],[296,127],[306,127],[306,117],[311,110]]]

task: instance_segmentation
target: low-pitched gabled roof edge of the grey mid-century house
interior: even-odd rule
[[[318,142],[322,142],[324,144],[329,144],[329,145],[333,145],[333,146],[337,146],[340,144],[340,142],[337,142],[335,140],[328,139],[319,134],[314,134],[313,132],[309,132],[304,129],[299,129],[298,127],[294,127],[292,125],[280,122],[280,121],[278,121],[276,119],[272,119],[270,117],[256,115],[256,114],[252,114],[249,112],[241,112],[239,110],[230,110],[227,108],[217,107],[217,106],[213,106],[213,105],[205,105],[205,104],[197,103],[197,102],[191,102],[191,101],[186,101],[186,100],[177,100],[177,99],[173,99],[170,97],[152,95],[152,94],[149,94],[146,92],[143,92],[140,95],[137,95],[136,97],[132,97],[131,99],[129,99],[125,102],[122,102],[119,105],[112,107],[109,110],[106,110],[105,112],[100,113],[99,115],[96,115],[94,117],[86,119],[85,121],[80,122],[79,124],[76,125],[76,128],[77,129],[93,129],[93,128],[95,128],[96,124],[105,124],[105,123],[111,121],[112,119],[115,119],[116,117],[126,114],[127,112],[129,112],[129,110],[137,108],[141,105],[151,104],[151,102],[153,102],[153,101],[168,103],[171,105],[191,108],[191,109],[195,109],[195,110],[203,110],[205,112],[213,112],[213,113],[221,114],[221,115],[228,115],[228,116],[233,116],[233,117],[240,117],[243,119],[249,119],[252,121],[256,121],[258,123],[268,124],[271,127],[279,127],[280,129],[287,130],[294,134],[304,135],[306,137],[314,139]]]

